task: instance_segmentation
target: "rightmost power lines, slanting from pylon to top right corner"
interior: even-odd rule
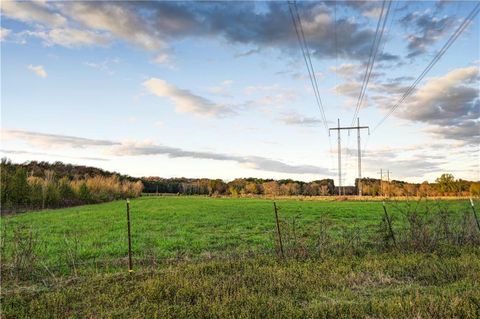
[[[443,47],[440,49],[440,51],[437,52],[435,57],[430,61],[430,63],[427,65],[427,67],[423,70],[423,72],[417,77],[417,79],[410,85],[410,87],[405,91],[403,96],[400,98],[400,100],[392,106],[390,111],[378,122],[378,124],[374,127],[374,131],[382,125],[392,114],[395,112],[395,110],[405,101],[407,97],[409,97],[412,92],[415,90],[417,85],[420,83],[420,81],[423,80],[425,75],[435,66],[435,64],[441,59],[441,57],[447,52],[447,50],[450,48],[450,46],[458,39],[458,37],[462,34],[462,32],[468,27],[470,22],[475,18],[475,16],[478,14],[480,11],[480,3],[477,3],[477,5],[473,8],[473,10],[470,12],[470,14],[465,18],[465,20],[460,24],[460,26],[455,30],[455,32],[450,36],[450,38],[445,42]]]

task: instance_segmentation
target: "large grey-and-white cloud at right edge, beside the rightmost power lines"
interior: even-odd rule
[[[454,69],[443,76],[431,77],[407,97],[394,116],[426,124],[424,132],[435,138],[478,144],[480,138],[480,96],[477,66]],[[407,86],[403,81],[372,85],[378,95],[372,101],[389,111],[396,105]]]

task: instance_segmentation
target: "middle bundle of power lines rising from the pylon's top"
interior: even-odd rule
[[[360,89],[360,95],[358,96],[357,106],[355,107],[355,112],[353,113],[352,125],[355,123],[355,119],[357,118],[358,112],[360,111],[360,107],[362,105],[363,98],[365,97],[365,93],[366,93],[367,87],[368,87],[368,82],[370,81],[373,66],[375,64],[375,59],[376,59],[377,54],[378,54],[378,48],[380,46],[380,42],[382,41],[383,32],[385,31],[385,25],[386,25],[386,22],[388,20],[388,14],[390,12],[390,7],[392,5],[392,2],[388,1],[387,11],[384,15],[383,13],[384,13],[384,10],[385,10],[386,2],[387,2],[387,0],[383,1],[382,11],[380,12],[380,16],[378,18],[377,29],[375,31],[375,37],[374,37],[372,48],[371,48],[371,51],[370,51],[370,56],[368,58],[367,68],[365,70],[365,75],[363,77],[363,83],[362,83],[362,87]],[[383,24],[382,24],[382,20],[383,20]],[[382,25],[382,29],[379,32],[380,25]]]

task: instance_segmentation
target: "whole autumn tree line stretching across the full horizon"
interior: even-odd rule
[[[115,199],[144,193],[224,196],[332,196],[339,193],[332,179],[312,182],[292,179],[237,178],[226,182],[208,178],[136,178],[95,167],[62,162],[31,161],[14,164],[1,161],[1,209],[57,208]],[[342,194],[356,195],[361,184],[367,196],[480,196],[480,182],[455,179],[443,174],[434,183],[407,183],[362,178]]]

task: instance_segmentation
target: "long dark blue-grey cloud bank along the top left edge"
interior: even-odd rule
[[[255,49],[277,48],[297,52],[295,32],[285,6],[269,2],[259,12],[255,6],[220,3],[142,2],[142,1],[4,1],[3,14],[30,24],[32,35],[47,37],[47,43],[75,47],[86,44],[105,45],[120,39],[157,55],[169,49],[170,41],[188,37],[222,38],[232,44],[251,44]],[[324,3],[303,3],[303,26],[312,54],[316,57],[363,59],[370,52],[373,30],[344,19],[334,23],[332,11]],[[232,24],[232,21],[236,21]],[[265,27],[268,26],[268,27]],[[336,41],[333,30],[336,30]],[[51,34],[53,30],[56,33]],[[66,31],[77,30],[76,37],[66,41]],[[248,32],[246,32],[248,30]],[[83,37],[78,34],[83,32]],[[72,31],[69,32],[70,34]],[[92,39],[93,35],[97,39]],[[85,37],[89,36],[86,41]],[[102,35],[101,38],[98,38]],[[74,44],[74,40],[80,40]],[[338,42],[338,43],[337,43]],[[337,45],[334,46],[333,44]],[[337,49],[333,49],[333,48]],[[297,48],[298,49],[298,48]],[[391,56],[391,58],[396,58]]]

